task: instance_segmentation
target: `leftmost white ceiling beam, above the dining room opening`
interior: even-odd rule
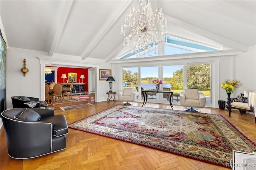
[[[68,14],[70,12],[70,8],[72,6],[73,0],[63,1],[63,3],[64,4],[62,7],[62,12],[60,14],[60,20],[59,20],[59,23],[58,23],[58,26],[57,26],[57,29],[56,29],[56,32],[55,32],[55,35],[54,35],[54,38],[52,41],[52,46],[51,46],[49,54],[48,54],[50,57],[52,57],[52,55],[58,45],[58,41],[60,40],[60,36],[61,36],[62,30],[64,28],[64,25],[66,23],[66,20],[68,18]]]

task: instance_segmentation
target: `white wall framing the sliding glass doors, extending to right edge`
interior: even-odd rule
[[[122,67],[136,67],[143,65],[166,65],[166,64],[175,64],[175,63],[184,63],[184,62],[200,62],[200,61],[212,61],[214,62],[215,72],[213,73],[216,77],[214,84],[212,85],[212,89],[214,89],[215,94],[213,98],[213,105],[208,107],[216,107],[218,108],[218,100],[227,100],[227,94],[224,89],[220,87],[220,83],[225,79],[237,79],[242,82],[242,87],[238,90],[234,91],[232,96],[236,97],[246,91],[256,91],[256,47],[250,47],[248,52],[240,53],[238,51],[220,51],[218,53],[203,54],[205,56],[201,56],[198,54],[186,54],[187,56],[181,57],[177,55],[177,57],[168,57],[159,59],[153,59],[152,61],[146,61],[146,59],[141,59],[140,61],[132,61],[132,60],[124,60],[124,62],[113,61],[113,76],[116,79],[116,82],[113,84],[114,89],[116,91],[120,91],[122,89],[122,83],[118,83],[122,81]],[[249,80],[250,79],[250,80]]]

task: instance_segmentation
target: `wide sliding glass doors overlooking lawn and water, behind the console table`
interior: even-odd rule
[[[154,79],[160,78],[160,90],[180,94],[186,88],[198,88],[206,96],[206,104],[212,104],[211,64],[157,65],[123,68],[124,86],[133,85],[137,91],[136,101],[143,101],[142,90],[155,90]],[[179,103],[178,97],[172,102]],[[162,93],[148,93],[148,102],[169,103]]]

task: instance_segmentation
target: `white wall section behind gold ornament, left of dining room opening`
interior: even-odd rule
[[[7,109],[12,108],[12,96],[28,96],[41,98],[41,67],[36,51],[7,49],[6,52],[6,100]],[[42,55],[42,53],[40,54]],[[20,69],[23,59],[29,72],[26,76]]]

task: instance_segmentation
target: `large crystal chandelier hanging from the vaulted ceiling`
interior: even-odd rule
[[[124,46],[130,45],[130,40],[134,38],[130,53],[136,53],[136,56],[151,51],[151,47],[155,48],[154,53],[161,48],[160,42],[167,41],[167,21],[164,17],[162,8],[152,11],[149,0],[139,0],[140,7],[130,9],[125,15],[124,22],[121,25],[121,34],[124,34]],[[142,2],[143,1],[143,2]],[[140,9],[141,8],[141,9]],[[125,29],[130,29],[126,35]]]

